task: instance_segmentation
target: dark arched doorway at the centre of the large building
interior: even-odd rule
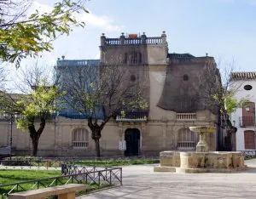
[[[140,150],[140,130],[137,128],[127,128],[125,130],[126,150],[125,156],[138,156]]]

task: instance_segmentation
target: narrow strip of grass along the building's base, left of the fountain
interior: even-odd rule
[[[137,165],[137,164],[154,164],[159,163],[159,159],[137,159],[137,160],[92,160],[92,161],[75,161],[75,165],[83,165],[90,167],[119,167],[125,165]]]

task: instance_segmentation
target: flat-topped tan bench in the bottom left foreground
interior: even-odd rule
[[[58,199],[74,199],[75,191],[85,190],[86,185],[68,184],[53,186],[38,190],[27,190],[9,195],[9,199],[43,199],[49,196],[58,196]]]

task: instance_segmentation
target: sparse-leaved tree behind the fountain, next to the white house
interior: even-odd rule
[[[216,122],[218,126],[218,150],[230,151],[232,149],[231,136],[236,133],[236,127],[230,122],[230,114],[246,103],[248,99],[247,97],[240,100],[235,98],[241,84],[234,85],[234,82],[231,81],[230,76],[235,68],[234,61],[222,69],[219,69],[218,65],[215,61],[209,61],[205,65],[203,72],[207,78],[201,93],[204,104],[212,107],[212,111],[218,116]]]

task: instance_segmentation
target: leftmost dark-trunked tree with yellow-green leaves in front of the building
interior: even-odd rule
[[[58,109],[56,103],[61,91],[49,76],[49,72],[38,64],[20,71],[20,82],[16,87],[19,94],[4,95],[2,111],[20,115],[16,121],[17,128],[29,132],[32,156],[37,156],[39,138],[44,132],[47,120]]]

